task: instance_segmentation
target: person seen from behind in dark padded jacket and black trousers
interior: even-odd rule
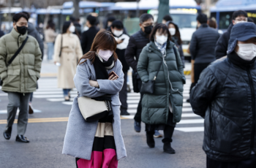
[[[215,61],[214,49],[219,39],[219,33],[214,28],[208,26],[207,16],[205,14],[199,14],[197,16],[197,24],[198,29],[192,35],[189,46],[191,59],[195,61],[195,85],[203,69],[206,69],[211,62]]]

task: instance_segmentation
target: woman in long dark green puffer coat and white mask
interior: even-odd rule
[[[181,121],[183,85],[186,78],[178,48],[171,42],[168,27],[159,23],[150,34],[151,42],[143,47],[138,61],[138,74],[143,83],[154,80],[154,92],[145,93],[142,99],[141,120],[146,123],[146,142],[154,148],[154,130],[164,130],[165,153],[171,148],[173,131]],[[143,89],[143,86],[142,88]]]

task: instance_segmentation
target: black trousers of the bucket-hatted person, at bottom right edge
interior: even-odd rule
[[[256,156],[251,155],[244,161],[235,162],[215,161],[207,157],[206,165],[207,168],[252,168],[256,167]]]

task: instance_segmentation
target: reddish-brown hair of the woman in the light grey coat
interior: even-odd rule
[[[117,61],[118,56],[116,54],[116,45],[116,39],[113,37],[110,31],[99,31],[94,38],[94,42],[92,42],[91,50],[83,55],[83,57],[80,58],[79,62],[81,61],[81,59],[86,60],[79,63],[79,65],[86,62],[87,59],[89,59],[91,61],[91,64],[93,64],[96,56],[95,53],[99,49],[113,50],[114,61]]]

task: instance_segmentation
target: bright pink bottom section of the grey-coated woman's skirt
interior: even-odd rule
[[[78,168],[117,168],[116,150],[92,151],[91,160],[77,159]]]

